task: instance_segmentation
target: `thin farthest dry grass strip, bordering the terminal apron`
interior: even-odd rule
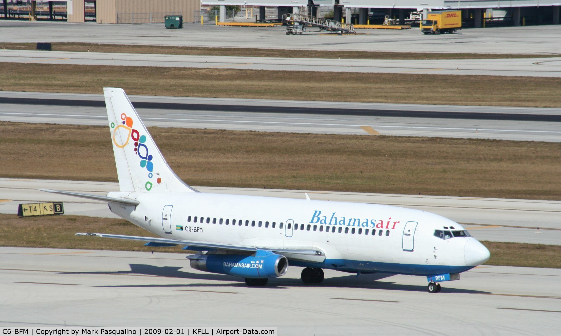
[[[35,50],[35,43],[0,43],[0,48]],[[558,57],[536,54],[476,54],[476,53],[395,53],[360,52],[347,50],[290,50],[258,48],[209,48],[204,46],[124,45],[56,42],[53,50],[59,52],[127,53],[127,54],[174,54],[240,57],[288,57],[288,58],[346,58],[346,59],[496,59]]]

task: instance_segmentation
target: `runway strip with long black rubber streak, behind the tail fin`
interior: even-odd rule
[[[148,126],[561,141],[561,109],[129,96]],[[0,92],[0,120],[105,125],[102,95]],[[370,132],[370,133],[369,133]]]

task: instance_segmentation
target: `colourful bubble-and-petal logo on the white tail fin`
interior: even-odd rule
[[[115,125],[115,123],[111,123],[111,128],[113,129],[113,143],[115,146],[119,148],[125,148],[127,146],[128,141],[132,139],[135,142],[134,150],[135,154],[140,157],[139,165],[141,168],[146,168],[148,170],[148,179],[152,179],[154,177],[154,164],[152,162],[153,156],[148,153],[148,147],[146,147],[146,136],[140,135],[139,131],[132,128],[132,118],[127,116],[125,113],[121,114],[121,124]],[[120,129],[120,130],[119,130]],[[126,136],[124,137],[125,141],[118,141],[118,139],[123,139],[122,134],[125,133]],[[123,142],[122,144],[119,142]],[[156,183],[162,183],[161,178],[156,179]],[[146,190],[152,189],[154,184],[151,181],[146,181],[145,188]]]

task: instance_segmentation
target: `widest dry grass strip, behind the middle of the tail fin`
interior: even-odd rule
[[[191,185],[561,199],[561,143],[150,128]],[[109,130],[0,122],[0,176],[117,181]]]

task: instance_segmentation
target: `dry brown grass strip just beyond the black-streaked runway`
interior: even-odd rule
[[[335,91],[325,85],[334,81]],[[561,107],[561,78],[548,77],[32,63],[2,63],[0,72],[4,91],[100,94],[103,86],[122,87],[129,95]]]

